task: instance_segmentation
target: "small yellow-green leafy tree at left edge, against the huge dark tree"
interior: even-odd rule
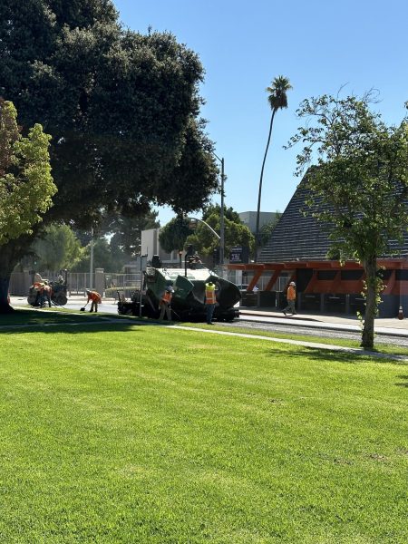
[[[9,312],[5,248],[30,236],[56,191],[48,153],[50,136],[35,124],[25,138],[12,102],[0,99],[0,312]]]

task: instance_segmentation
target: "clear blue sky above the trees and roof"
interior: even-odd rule
[[[202,116],[224,157],[226,205],[257,209],[257,188],[270,121],[265,89],[289,78],[288,108],[277,112],[264,172],[262,211],[283,211],[298,179],[296,152],[283,145],[296,133],[299,103],[310,96],[362,94],[399,123],[408,101],[406,0],[113,0],[124,26],[142,34],[170,31],[199,54],[206,71]],[[214,201],[219,202],[219,198]],[[160,209],[165,224],[173,217]]]

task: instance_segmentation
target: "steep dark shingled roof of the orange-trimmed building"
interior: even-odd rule
[[[305,215],[306,182],[302,180],[292,199],[287,205],[282,217],[273,230],[267,244],[262,248],[257,259],[259,263],[294,262],[296,260],[325,260],[331,247],[328,238],[330,227],[318,222],[311,215]],[[408,255],[408,233],[404,234],[403,244],[391,242],[393,257]],[[391,251],[390,251],[391,254]],[[389,256],[384,256],[389,257]]]

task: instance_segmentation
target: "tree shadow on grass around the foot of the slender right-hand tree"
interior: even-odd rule
[[[272,355],[272,352],[270,353]],[[288,352],[288,355],[290,357],[301,357],[303,359],[307,357],[309,360],[327,363],[363,364],[366,363],[367,358],[369,358],[371,362],[376,364],[385,363],[408,366],[408,361],[406,358],[403,358],[404,355],[396,355],[401,358],[393,359],[392,357],[395,355],[378,354],[378,352],[351,353],[305,346],[302,351],[293,350]]]

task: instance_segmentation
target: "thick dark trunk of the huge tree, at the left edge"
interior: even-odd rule
[[[0,314],[15,311],[7,300],[10,276],[20,258],[27,253],[31,242],[32,238],[27,235],[0,246]]]

